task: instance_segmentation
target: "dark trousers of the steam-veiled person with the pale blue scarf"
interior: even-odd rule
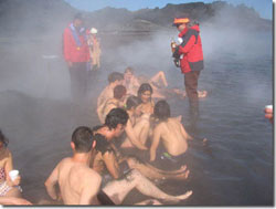
[[[71,77],[71,96],[74,103],[78,103],[84,100],[87,88],[86,62],[74,62],[68,70]]]

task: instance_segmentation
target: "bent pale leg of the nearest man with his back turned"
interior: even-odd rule
[[[138,189],[145,196],[166,201],[180,201],[192,195],[192,191],[180,196],[164,194],[137,170],[128,173],[123,180],[114,180],[107,184],[103,190],[116,205],[120,205],[134,188]]]

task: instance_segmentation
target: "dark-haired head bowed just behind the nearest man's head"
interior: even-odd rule
[[[113,108],[105,118],[105,126],[114,132],[114,136],[118,137],[125,130],[128,121],[128,114],[123,108]]]

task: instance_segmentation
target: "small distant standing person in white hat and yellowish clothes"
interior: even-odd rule
[[[95,28],[92,28],[88,35],[88,45],[89,45],[89,54],[92,59],[92,70],[97,71],[100,67],[100,45],[99,40],[97,38],[98,30]]]

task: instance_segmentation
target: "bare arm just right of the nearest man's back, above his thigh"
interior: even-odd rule
[[[113,176],[113,178],[119,178],[119,166],[115,153],[112,150],[106,151],[103,156],[103,159],[108,173]]]

